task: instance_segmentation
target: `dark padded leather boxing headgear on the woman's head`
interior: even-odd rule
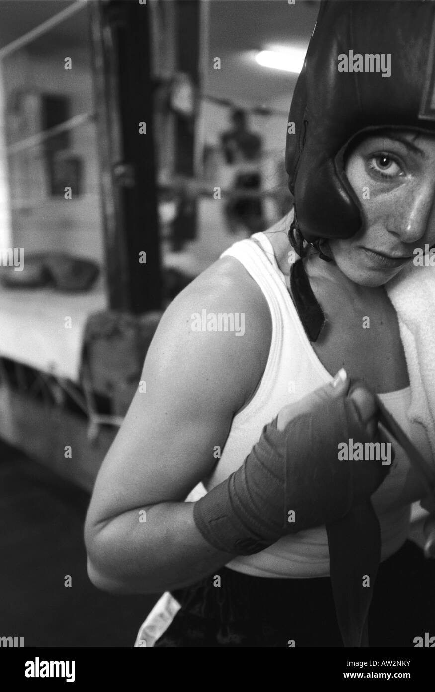
[[[434,18],[431,0],[322,2],[290,107],[295,134],[288,127],[286,145],[295,218],[308,242],[349,238],[363,226],[358,195],[343,171],[356,135],[378,128],[435,133],[435,119],[420,113],[434,75]],[[340,54],[353,65],[349,51],[391,55],[391,75],[339,72]]]

